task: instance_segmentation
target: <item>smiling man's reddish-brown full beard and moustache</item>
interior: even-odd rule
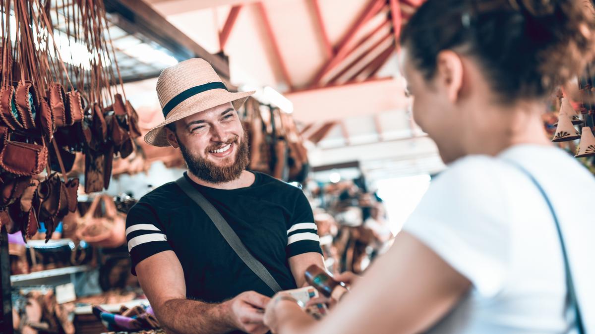
[[[226,146],[227,144],[233,143],[234,149],[237,150],[236,160],[225,166],[217,166],[215,165],[215,163],[209,161],[208,159],[205,159],[200,156],[194,156],[182,144],[180,144],[180,151],[182,153],[182,156],[184,157],[184,160],[186,160],[188,170],[193,175],[195,175],[199,179],[202,179],[203,181],[212,184],[220,184],[238,179],[240,175],[242,175],[244,169],[246,169],[246,166],[248,166],[249,157],[247,139],[248,138],[244,136],[244,138],[238,145],[239,137],[236,136],[231,140],[227,141],[227,143],[225,143]],[[218,144],[217,147],[209,147],[207,152],[211,150],[216,150],[221,146],[222,144]]]

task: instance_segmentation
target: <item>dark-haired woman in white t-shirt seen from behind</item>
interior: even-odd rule
[[[450,168],[328,317],[277,297],[271,330],[566,333],[578,304],[594,332],[595,179],[540,118],[593,59],[594,20],[583,0],[425,2],[403,30],[402,71],[415,121]],[[570,277],[578,303],[567,303]]]

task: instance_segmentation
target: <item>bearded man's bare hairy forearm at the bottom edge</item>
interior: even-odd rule
[[[155,310],[168,333],[227,333],[235,329],[226,302],[209,304],[196,300],[169,300]]]

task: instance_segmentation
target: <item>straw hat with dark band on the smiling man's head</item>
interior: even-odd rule
[[[229,92],[211,64],[201,58],[165,68],[156,90],[165,120],[145,135],[145,142],[153,146],[170,146],[165,125],[228,102],[237,110],[254,93]]]

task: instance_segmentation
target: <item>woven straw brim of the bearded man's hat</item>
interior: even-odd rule
[[[254,93],[254,91],[231,93],[224,89],[214,89],[189,97],[177,105],[176,108],[172,109],[165,121],[145,134],[145,143],[159,147],[170,146],[170,143],[167,141],[165,125],[228,102],[231,102],[233,107],[238,110],[246,102],[248,96]]]

